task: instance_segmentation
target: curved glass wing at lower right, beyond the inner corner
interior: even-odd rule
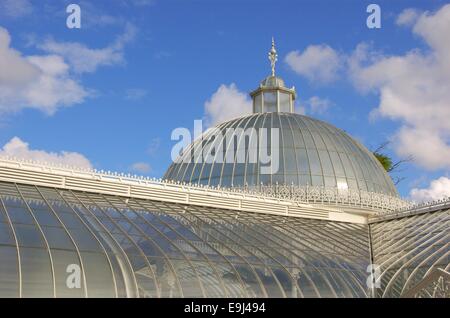
[[[374,219],[369,226],[380,275],[375,296],[450,298],[448,201]]]

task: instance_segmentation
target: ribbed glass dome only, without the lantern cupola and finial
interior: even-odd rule
[[[230,128],[235,129],[234,138],[225,138]],[[276,150],[277,171],[264,173],[261,158],[250,160],[254,145],[246,128],[277,129],[278,147],[273,148],[269,140],[266,147],[270,151],[261,149],[264,145],[257,151],[259,156],[261,150]],[[256,113],[222,123],[217,131],[223,140],[213,142],[217,139],[214,130],[206,131],[168,168],[164,178],[220,187],[308,185],[398,196],[391,178],[370,151],[344,131],[320,120],[295,113]],[[214,144],[220,144],[222,150],[210,151]],[[244,160],[218,160],[237,159],[237,149],[242,149]]]

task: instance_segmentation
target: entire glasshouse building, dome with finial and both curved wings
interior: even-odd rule
[[[0,297],[450,297],[450,201],[400,199],[269,59],[165,180],[0,158]]]

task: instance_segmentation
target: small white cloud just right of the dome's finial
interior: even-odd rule
[[[301,53],[289,52],[285,61],[297,74],[321,84],[336,80],[342,67],[342,57],[324,44],[310,45]]]

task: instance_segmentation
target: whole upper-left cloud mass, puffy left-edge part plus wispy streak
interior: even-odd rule
[[[8,31],[0,27],[0,114],[34,108],[51,115],[60,107],[84,102],[92,92],[74,74],[124,63],[124,47],[135,34],[135,27],[128,24],[125,32],[105,48],[47,40],[37,44],[47,55],[23,56],[10,47]]]

